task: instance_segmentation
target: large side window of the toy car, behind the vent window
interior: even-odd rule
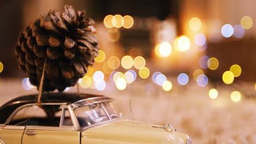
[[[60,105],[26,106],[11,119],[8,125],[33,125],[59,127],[60,117],[55,117]]]

